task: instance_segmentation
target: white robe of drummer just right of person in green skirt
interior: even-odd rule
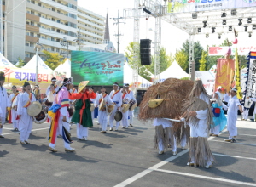
[[[102,94],[98,94],[96,97],[96,106],[99,106],[101,104]],[[109,95],[106,94],[106,96],[103,98],[107,105],[112,104],[112,100],[110,99]],[[98,116],[99,123],[102,127],[102,131],[107,130],[107,124],[108,124],[108,113],[107,111],[102,111],[99,109],[99,116]]]

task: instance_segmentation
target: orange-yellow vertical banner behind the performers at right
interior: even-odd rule
[[[230,90],[235,86],[235,61],[234,59],[218,59],[214,91],[218,86]]]

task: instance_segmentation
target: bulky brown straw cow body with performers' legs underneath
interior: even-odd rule
[[[138,117],[143,121],[154,120],[154,143],[159,154],[163,154],[171,146],[173,155],[176,155],[177,144],[183,143],[181,145],[184,147],[186,140],[189,140],[189,127],[184,126],[185,123],[180,121],[179,116],[183,100],[192,88],[192,81],[168,78],[148,88],[144,95],[139,105]]]

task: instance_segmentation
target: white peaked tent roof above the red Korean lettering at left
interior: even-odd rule
[[[33,56],[33,58],[28,62],[26,63],[26,65],[24,65],[24,69],[29,69],[29,70],[36,70],[36,65],[37,65],[37,54],[35,54]],[[44,71],[52,71],[52,69],[49,68],[48,65],[46,65],[44,63],[44,61],[40,58],[40,56],[38,55],[38,72],[44,72]]]

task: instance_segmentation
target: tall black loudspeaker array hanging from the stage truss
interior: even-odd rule
[[[151,40],[142,39],[140,42],[141,64],[151,65]]]

